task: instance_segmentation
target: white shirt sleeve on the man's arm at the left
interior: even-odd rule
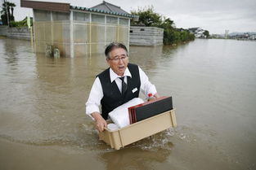
[[[100,113],[99,107],[101,105],[101,98],[103,98],[103,90],[101,87],[101,81],[99,77],[97,77],[92,85],[88,101],[85,103],[86,114],[88,116],[91,116],[91,114],[95,111]]]

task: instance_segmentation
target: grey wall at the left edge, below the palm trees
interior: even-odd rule
[[[30,40],[30,30],[26,27],[8,28],[7,26],[0,26],[0,36]]]

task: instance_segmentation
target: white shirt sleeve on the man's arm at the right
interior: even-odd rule
[[[146,73],[139,67],[140,79],[141,79],[141,92],[147,97],[148,94],[155,95],[157,93],[155,85],[152,85],[146,76]]]

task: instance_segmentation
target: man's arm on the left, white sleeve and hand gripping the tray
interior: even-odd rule
[[[97,77],[92,85],[92,89],[86,102],[86,114],[91,116],[95,120],[96,129],[102,132],[106,127],[106,120],[100,114],[99,106],[101,104],[101,98],[103,98],[103,91],[101,87],[101,81]]]

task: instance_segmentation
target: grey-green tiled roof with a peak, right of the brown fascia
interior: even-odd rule
[[[90,8],[70,6],[70,9],[79,10],[79,11],[92,11],[92,12],[110,14],[110,15],[120,15],[120,16],[129,17],[129,18],[137,17],[137,15],[131,15],[127,11],[122,10],[120,7],[117,7],[105,1],[103,1],[97,6],[90,7]]]

